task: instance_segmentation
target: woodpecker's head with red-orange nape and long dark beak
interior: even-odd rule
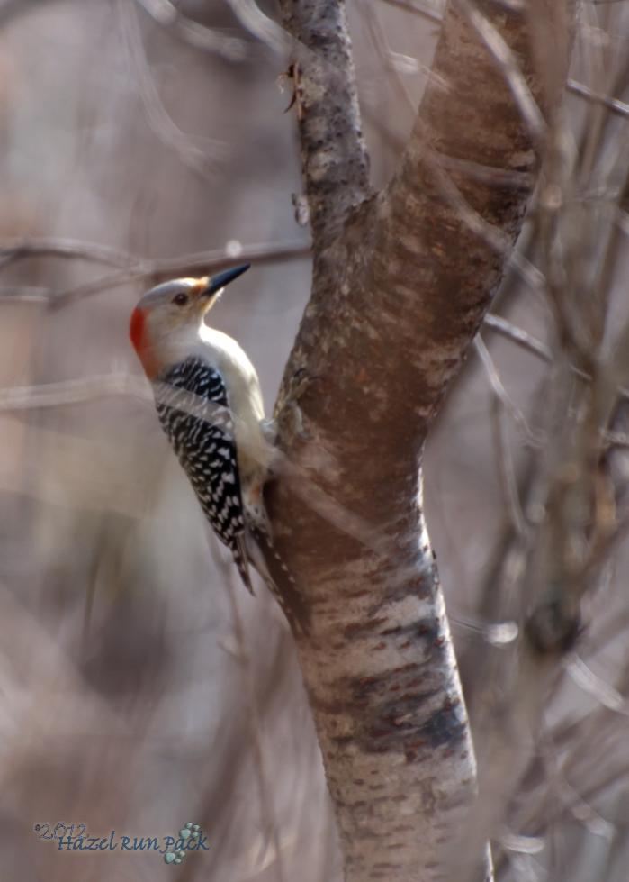
[[[222,289],[249,268],[249,264],[225,269],[215,276],[175,278],[151,288],[131,313],[129,336],[148,377],[165,367],[170,345],[192,341],[203,316],[216,303]]]

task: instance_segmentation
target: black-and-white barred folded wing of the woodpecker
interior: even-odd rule
[[[159,421],[203,513],[231,550],[253,593],[234,427],[223,378],[203,359],[185,359],[159,377],[155,397]]]

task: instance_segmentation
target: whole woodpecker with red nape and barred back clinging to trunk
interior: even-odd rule
[[[256,369],[235,340],[204,322],[222,289],[248,268],[152,288],[131,314],[130,340],[153,387],[162,428],[243,582],[252,591],[253,564],[289,619],[307,630],[307,614],[274,551],[265,512],[273,446]]]

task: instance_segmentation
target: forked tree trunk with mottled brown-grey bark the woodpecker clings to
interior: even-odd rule
[[[343,4],[282,10],[314,269],[277,408],[291,466],[268,502],[311,609],[298,647],[346,879],[433,882],[449,877],[475,763],[421,453],[516,241],[544,121],[525,22],[499,4],[450,5],[408,148],[370,195]],[[496,33],[508,63],[487,48]],[[483,850],[465,864],[490,875]]]

